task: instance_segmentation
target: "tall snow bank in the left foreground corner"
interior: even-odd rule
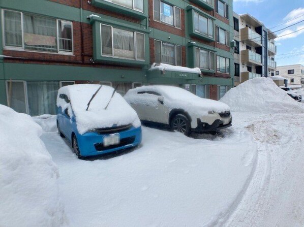
[[[41,127],[0,105],[0,226],[60,226],[58,170],[39,138]]]

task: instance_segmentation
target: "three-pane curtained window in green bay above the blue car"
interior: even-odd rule
[[[103,56],[145,60],[144,34],[101,24]]]

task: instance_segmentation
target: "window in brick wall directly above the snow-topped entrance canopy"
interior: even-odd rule
[[[181,66],[181,46],[154,40],[155,62]]]

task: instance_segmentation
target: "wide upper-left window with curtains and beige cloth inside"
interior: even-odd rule
[[[73,24],[33,14],[3,10],[6,48],[55,53],[73,52]]]

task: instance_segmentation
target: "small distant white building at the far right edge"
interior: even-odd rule
[[[288,87],[304,88],[304,66],[302,64],[279,66],[276,70],[276,76],[286,78],[288,80]]]

